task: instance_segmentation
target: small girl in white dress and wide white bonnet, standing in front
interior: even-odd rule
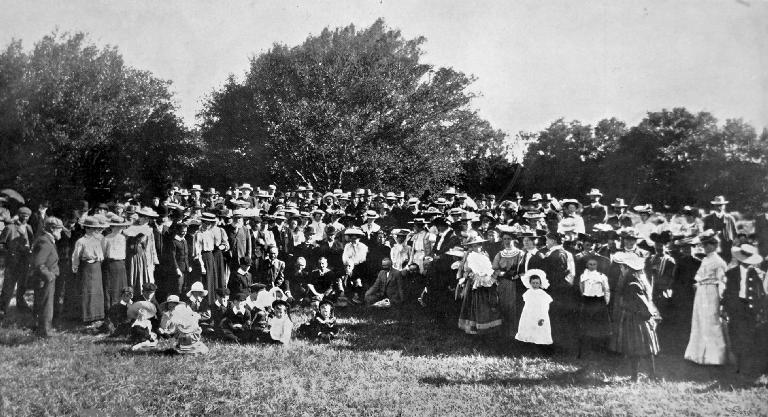
[[[551,345],[549,305],[552,297],[544,291],[549,287],[547,274],[540,269],[529,269],[520,279],[528,291],[523,294],[525,305],[515,339],[537,345]]]

